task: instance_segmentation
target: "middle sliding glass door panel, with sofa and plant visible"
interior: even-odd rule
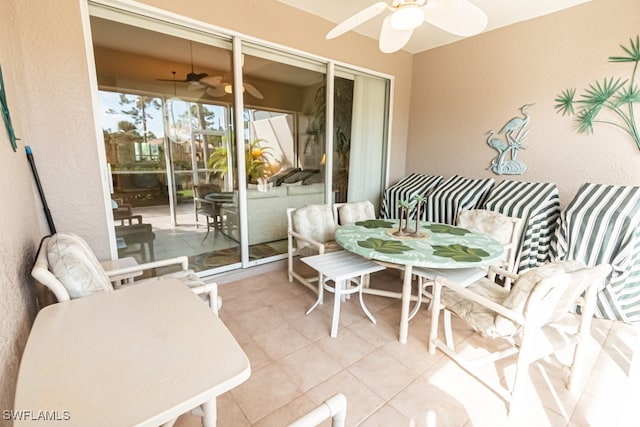
[[[287,253],[287,208],[324,203],[326,65],[243,44],[249,262]],[[323,116],[324,117],[324,116]]]

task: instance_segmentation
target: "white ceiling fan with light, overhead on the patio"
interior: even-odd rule
[[[382,22],[380,50],[391,53],[402,49],[413,30],[428,22],[457,36],[473,36],[487,26],[487,15],[468,0],[393,0],[379,1],[336,25],[327,39],[341,36],[385,10],[391,11]]]

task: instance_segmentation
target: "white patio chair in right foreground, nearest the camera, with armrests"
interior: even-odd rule
[[[489,278],[482,278],[466,288],[436,277],[429,351],[433,354],[439,348],[503,398],[507,402],[510,418],[517,416],[523,403],[529,365],[565,348],[572,350],[572,360],[567,364],[568,388],[574,392],[583,370],[585,341],[589,337],[598,287],[603,285],[610,272],[611,266],[608,264],[586,268],[578,261],[560,261],[536,267],[520,276],[491,267]],[[510,291],[493,281],[496,273],[510,275],[515,280]],[[583,293],[584,298],[581,299]],[[576,304],[580,305],[582,313],[579,321],[577,315],[569,314]],[[438,338],[438,318],[442,309],[446,343]],[[484,337],[473,342],[482,342],[484,345],[487,341],[498,340],[506,344],[506,348],[498,348],[497,342],[492,345],[487,343],[487,348],[482,352],[484,356],[469,360],[465,353],[473,353],[469,351],[471,349],[456,351],[453,347],[448,321],[451,312]],[[486,354],[487,350],[489,354]],[[518,355],[515,378],[513,381],[507,380],[512,386],[505,387],[492,381],[487,378],[487,371],[481,370],[483,364],[494,363],[514,354]],[[504,368],[502,365],[500,367]]]

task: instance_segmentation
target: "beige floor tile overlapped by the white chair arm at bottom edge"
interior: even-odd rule
[[[342,393],[347,398],[347,426],[358,425],[384,404],[384,399],[346,370],[312,388],[306,395],[320,405],[336,393]]]

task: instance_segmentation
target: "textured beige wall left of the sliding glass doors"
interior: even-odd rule
[[[0,127],[0,411],[13,406],[35,315],[29,273],[40,238],[49,232],[25,145],[33,148],[58,231],[74,230],[102,257],[110,253],[80,5],[81,0],[2,2],[0,64],[21,141],[14,153]]]

